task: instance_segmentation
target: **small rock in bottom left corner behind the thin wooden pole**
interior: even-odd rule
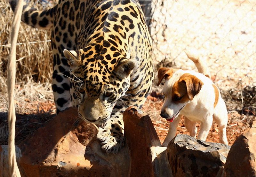
[[[16,152],[16,161],[18,168],[20,168],[20,157],[21,151],[18,146],[15,146]],[[0,176],[1,177],[9,177],[9,164],[8,164],[8,145],[0,146]],[[22,173],[21,173],[22,175]]]

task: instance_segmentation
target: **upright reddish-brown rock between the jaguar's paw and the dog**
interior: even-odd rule
[[[166,149],[160,141],[150,117],[137,107],[129,107],[124,115],[124,136],[130,150],[129,176],[170,176]]]

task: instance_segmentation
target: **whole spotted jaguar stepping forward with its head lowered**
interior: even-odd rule
[[[10,1],[15,10],[16,1]],[[27,5],[22,21],[52,30],[52,90],[57,112],[77,106],[99,124],[107,153],[124,143],[122,114],[144,104],[154,77],[151,39],[137,0],[60,0],[45,11]]]

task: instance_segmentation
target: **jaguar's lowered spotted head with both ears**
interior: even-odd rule
[[[83,84],[74,86],[79,100],[79,115],[89,122],[106,122],[117,100],[130,87],[130,74],[135,61],[121,55],[108,60],[109,56],[100,53],[87,57],[80,50],[63,52],[72,73],[83,81]]]

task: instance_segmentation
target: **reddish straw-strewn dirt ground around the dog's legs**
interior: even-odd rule
[[[147,101],[142,107],[144,112],[147,112],[154,124],[156,132],[159,136],[161,143],[164,142],[164,138],[167,135],[169,129],[169,122],[160,116],[161,108],[164,103],[163,99],[148,96]],[[236,138],[241,135],[244,130],[249,127],[248,119],[254,119],[253,116],[240,115],[236,111],[228,112],[228,126],[227,126],[227,138],[228,145],[232,145]],[[196,125],[197,127],[197,135],[200,130],[200,124]],[[211,130],[207,136],[206,141],[208,142],[219,142],[219,129],[217,123],[213,122]],[[180,123],[177,127],[176,134],[187,134],[189,132],[185,128],[184,118],[182,117]]]

